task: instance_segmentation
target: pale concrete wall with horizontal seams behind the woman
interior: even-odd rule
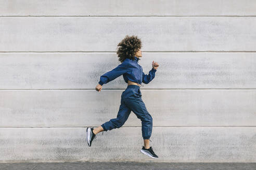
[[[256,2],[0,0],[0,162],[256,162]],[[153,117],[152,160],[141,122],[86,143],[115,118],[125,35],[143,42],[141,88]]]

